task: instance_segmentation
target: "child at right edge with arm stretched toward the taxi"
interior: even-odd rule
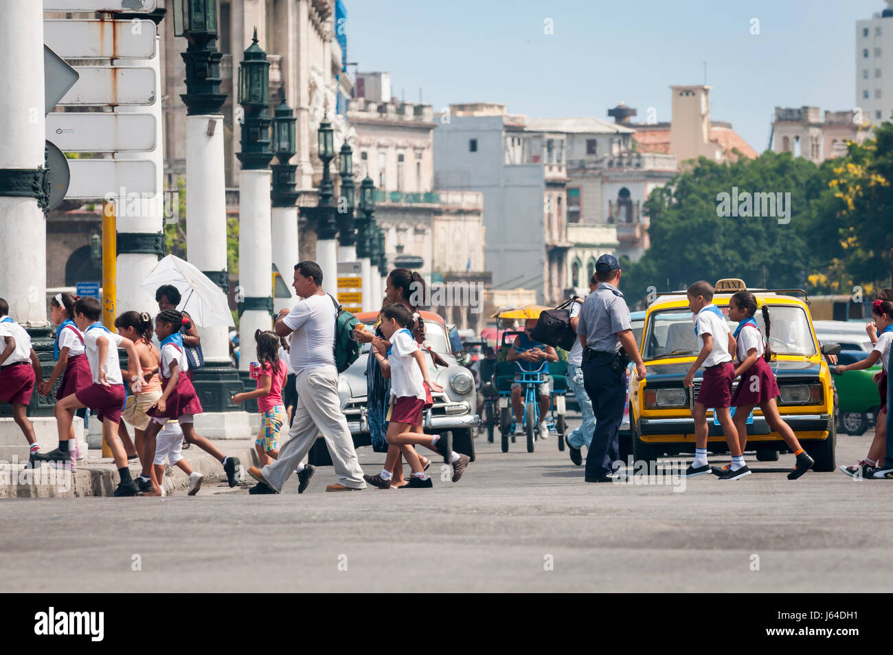
[[[890,343],[893,343],[893,301],[883,298],[875,299],[872,304],[872,317],[878,331],[878,338],[868,357],[854,364],[835,366],[834,373],[862,371],[871,368],[880,359],[880,377],[877,381],[880,392],[880,411],[874,421],[874,439],[868,456],[853,466],[840,466],[840,470],[852,477],[888,479],[887,474],[893,473],[893,468],[878,466],[878,464],[887,449],[887,412],[889,409],[887,407],[887,385],[889,384],[887,368],[889,366]]]

